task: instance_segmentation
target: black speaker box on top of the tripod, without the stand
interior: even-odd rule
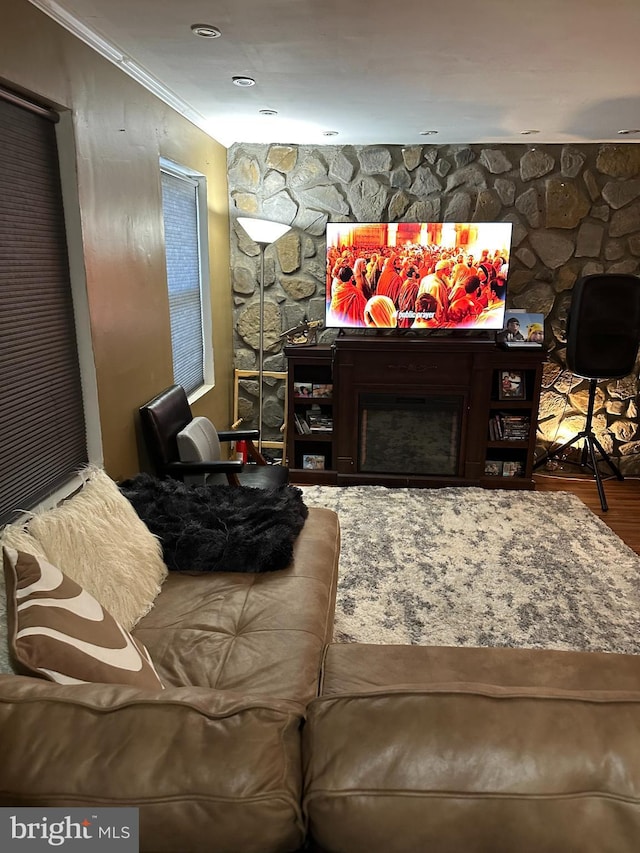
[[[567,367],[588,379],[628,376],[640,344],[640,278],[617,273],[576,282],[567,323]]]

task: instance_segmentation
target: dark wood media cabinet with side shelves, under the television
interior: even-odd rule
[[[543,349],[353,335],[285,355],[294,482],[533,488]]]

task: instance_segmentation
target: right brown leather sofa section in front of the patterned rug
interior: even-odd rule
[[[632,655],[332,645],[303,732],[310,833],[327,851],[635,853],[639,675]]]

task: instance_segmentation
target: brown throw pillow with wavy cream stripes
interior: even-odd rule
[[[60,569],[3,548],[9,650],[16,670],[59,684],[162,690],[149,653]]]

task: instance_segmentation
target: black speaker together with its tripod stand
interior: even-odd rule
[[[603,512],[609,507],[596,450],[618,480],[624,477],[593,432],[596,389],[599,379],[621,379],[632,372],[639,342],[640,278],[603,274],[580,279],[573,289],[567,322],[567,367],[589,380],[585,425],[572,439],[545,453],[533,467],[540,468],[583,440],[580,464],[593,471]]]

